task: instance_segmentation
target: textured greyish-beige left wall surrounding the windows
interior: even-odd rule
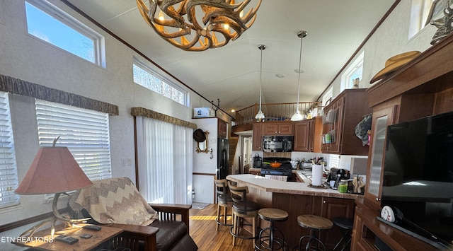
[[[131,107],[145,107],[192,122],[193,107],[206,107],[210,103],[190,93],[190,107],[185,107],[133,83],[132,59],[137,55],[132,49],[84,20],[61,1],[51,2],[105,37],[106,68],[28,35],[24,1],[6,0],[0,1],[0,74],[117,105],[119,116],[110,117],[112,175],[135,180]],[[34,100],[12,95],[11,110],[18,176],[22,180],[38,151]],[[122,166],[122,158],[131,158],[132,165]],[[65,203],[62,199],[60,207]],[[50,210],[51,204],[45,202],[44,195],[23,195],[19,206],[0,209],[0,225]],[[4,250],[3,245],[0,243],[0,250]]]

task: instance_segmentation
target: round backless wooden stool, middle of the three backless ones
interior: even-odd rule
[[[322,250],[326,250],[324,243],[316,237],[316,231],[331,229],[333,227],[333,222],[331,220],[321,216],[304,214],[297,216],[297,223],[299,223],[299,226],[302,226],[302,228],[309,228],[311,232],[311,235],[304,235],[299,239],[299,251],[302,250],[302,241],[304,238],[308,238],[305,250],[319,250],[319,244],[323,247]],[[316,247],[312,249],[311,245],[314,244],[316,244]]]

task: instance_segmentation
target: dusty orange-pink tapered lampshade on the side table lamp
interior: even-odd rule
[[[41,147],[25,174],[17,194],[68,192],[93,183],[86,177],[67,147]]]

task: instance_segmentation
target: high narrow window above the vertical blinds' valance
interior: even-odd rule
[[[187,104],[187,92],[183,91],[182,88],[171,84],[169,81],[163,81],[157,74],[154,73],[148,66],[134,59],[133,64],[134,71],[134,82],[140,86],[144,86],[151,91],[164,95],[173,101],[180,103],[181,105],[188,106]]]

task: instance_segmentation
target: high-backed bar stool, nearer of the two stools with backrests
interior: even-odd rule
[[[256,226],[258,221],[258,210],[260,205],[256,202],[251,202],[247,199],[248,187],[235,187],[229,183],[229,190],[233,199],[233,226],[231,227],[230,233],[233,235],[233,245],[236,244],[236,238],[243,240],[256,239]],[[243,223],[243,218],[252,219],[252,236],[246,237],[245,235],[239,235],[241,226],[246,226]]]

